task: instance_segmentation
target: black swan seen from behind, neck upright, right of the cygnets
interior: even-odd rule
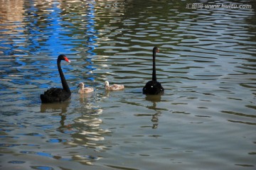
[[[153,72],[152,80],[148,81],[143,88],[143,94],[164,94],[164,88],[161,83],[156,81],[156,52],[159,52],[158,47],[153,48]]]

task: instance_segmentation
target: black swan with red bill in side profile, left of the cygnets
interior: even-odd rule
[[[61,60],[65,60],[66,62],[70,62],[70,60],[68,60],[68,57],[65,57],[65,55],[59,55],[57,59],[58,72],[60,74],[60,79],[63,85],[63,89],[61,88],[48,89],[47,91],[44,92],[44,94],[41,94],[40,96],[42,103],[62,102],[67,100],[71,96],[71,91],[69,89],[67,81],[65,80],[63,71],[60,67]]]

